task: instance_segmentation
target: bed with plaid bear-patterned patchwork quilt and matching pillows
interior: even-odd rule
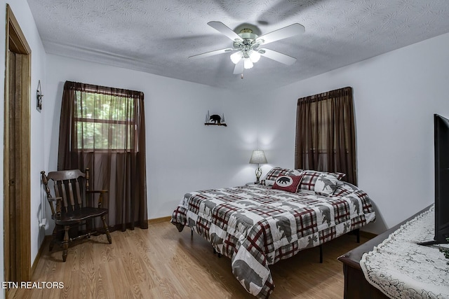
[[[185,194],[171,223],[207,239],[246,291],[268,298],[269,265],[375,221],[368,195],[343,176],[274,167],[260,184]]]

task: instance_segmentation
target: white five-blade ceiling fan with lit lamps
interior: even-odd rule
[[[257,36],[255,30],[246,26],[240,30],[237,34],[232,29],[227,27],[222,22],[208,22],[208,25],[218,32],[225,34],[229,39],[233,41],[233,48],[225,48],[220,50],[214,50],[198,55],[190,56],[190,59],[197,59],[203,57],[209,57],[222,53],[232,53],[230,56],[232,62],[234,62],[234,74],[241,74],[243,79],[243,69],[250,69],[254,66],[255,62],[260,60],[260,56],[267,57],[271,60],[281,62],[283,64],[291,65],[295,63],[296,58],[289,55],[279,53],[275,50],[267,48],[261,48],[262,45],[272,43],[273,41],[279,41],[280,39],[286,39],[290,36],[295,36],[305,32],[304,26],[295,23],[281,29],[277,29],[274,32],[269,32],[262,36]]]

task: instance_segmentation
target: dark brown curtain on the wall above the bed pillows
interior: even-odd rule
[[[343,172],[357,184],[352,88],[297,100],[295,169]]]

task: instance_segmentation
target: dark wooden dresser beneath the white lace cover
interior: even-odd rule
[[[366,279],[363,271],[360,267],[360,260],[363,256],[363,253],[372,251],[373,248],[387,239],[391,232],[394,232],[398,228],[401,228],[401,225],[406,223],[407,221],[412,220],[417,215],[421,214],[423,211],[427,211],[431,206],[423,209],[422,211],[417,212],[417,214],[407,218],[405,221],[399,223],[398,225],[390,228],[389,230],[382,232],[382,234],[377,235],[373,239],[370,239],[368,242],[358,246],[356,249],[353,249],[344,255],[340,256],[338,260],[343,263],[343,272],[344,272],[344,299],[384,299],[388,298],[387,295],[384,295],[382,291],[380,291],[375,286],[371,285]]]

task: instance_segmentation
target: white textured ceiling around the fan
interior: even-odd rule
[[[28,0],[47,53],[76,57],[234,90],[274,88],[449,32],[448,0]],[[295,22],[305,33],[266,48],[297,58],[262,57],[244,79],[232,48],[207,25],[256,25],[262,34]]]

